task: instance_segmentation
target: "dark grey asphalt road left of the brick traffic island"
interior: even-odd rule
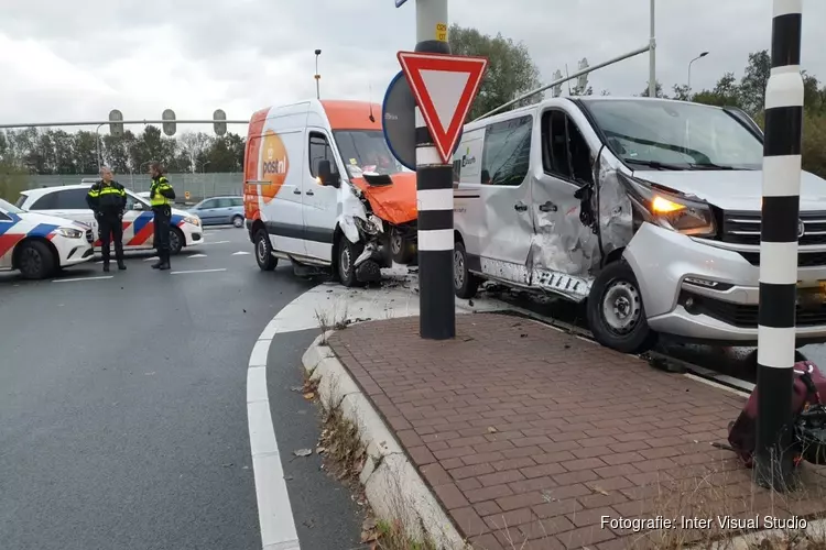
[[[107,276],[93,263],[56,280],[0,276],[1,548],[261,548],[247,365],[263,327],[315,283],[290,266],[262,273],[250,252],[247,232],[227,228],[171,272],[139,254],[110,278],[88,278]],[[271,385],[298,383],[311,340],[273,343]],[[289,457],[317,418],[300,395],[271,392]],[[302,547],[352,538],[349,495],[309,464],[285,465]]]

